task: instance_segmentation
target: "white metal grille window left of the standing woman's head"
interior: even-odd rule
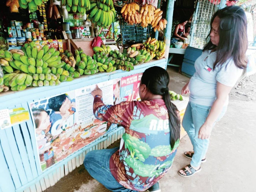
[[[218,0],[215,0],[218,1]],[[198,0],[196,11],[192,18],[190,32],[190,47],[203,49],[206,43],[206,37],[210,32],[210,21],[212,15],[219,9],[209,0]]]

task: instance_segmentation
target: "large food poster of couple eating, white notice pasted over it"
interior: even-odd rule
[[[113,105],[113,81],[98,83],[103,102]],[[91,85],[30,103],[42,171],[107,133],[93,116]],[[109,125],[110,126],[110,125]],[[109,131],[113,130],[111,125]]]

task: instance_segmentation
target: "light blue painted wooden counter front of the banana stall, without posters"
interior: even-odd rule
[[[83,76],[71,82],[62,82],[59,86],[37,87],[20,92],[9,91],[1,93],[0,110],[24,107],[29,111],[28,104],[34,100],[48,98],[91,84],[141,73],[152,66],[166,68],[166,63],[166,59],[163,58],[135,66],[135,69],[130,72],[118,70],[111,73],[98,73]],[[118,127],[116,130],[99,137],[77,152],[70,154],[67,158],[54,164],[42,173],[31,115],[29,121],[22,122],[19,125],[14,125],[4,130],[0,129],[0,192],[43,191],[55,185],[58,180],[73,169],[82,165],[87,152],[106,148],[111,143],[118,140],[123,132],[123,127]]]

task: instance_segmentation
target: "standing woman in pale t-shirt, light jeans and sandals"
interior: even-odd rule
[[[238,6],[218,10],[211,19],[202,55],[195,62],[196,72],[183,87],[189,103],[182,125],[193,145],[184,152],[191,159],[178,174],[189,177],[201,170],[206,161],[212,127],[227,110],[228,94],[247,66],[247,18]]]

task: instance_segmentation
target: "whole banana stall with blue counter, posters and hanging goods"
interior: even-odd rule
[[[17,22],[20,15],[15,13],[9,18],[11,22],[3,25],[3,29],[10,26],[5,29],[4,35],[13,39],[7,39],[7,42],[2,39],[0,50],[3,68],[0,92],[0,191],[39,192],[82,165],[88,151],[106,148],[120,139],[123,127],[94,118],[90,93],[98,84],[103,90],[106,104],[139,100],[138,85],[145,69],[152,66],[166,68],[164,56],[165,51],[169,52],[167,45],[170,38],[167,36],[165,42],[149,38],[123,52],[111,50],[102,44],[100,38],[94,40],[89,36],[94,36],[90,20],[98,26],[112,23],[115,15],[112,1],[105,1],[105,4],[99,1],[61,1],[58,4],[57,1],[42,3],[32,0],[35,5],[26,1],[17,2],[7,5],[11,11],[17,9],[24,16],[29,15],[29,9],[31,23],[25,26],[23,22]],[[169,1],[169,6],[173,3]],[[143,26],[157,19],[158,22],[153,24],[155,30],[171,27],[171,24],[161,20],[160,10],[153,8],[153,5],[149,5],[150,13],[144,14],[137,12],[140,7],[135,4],[132,7],[136,7],[136,10],[131,9],[130,14],[135,17],[144,15],[147,19]],[[147,10],[147,4],[143,6]],[[58,15],[60,8],[61,14]],[[52,9],[52,13],[48,9]],[[88,15],[90,20],[83,18],[80,25],[82,19],[75,19],[77,15],[66,15],[77,11],[81,14],[79,17]],[[103,13],[103,17],[99,12]],[[124,8],[123,13],[125,17],[129,12],[127,10],[126,13]],[[45,22],[37,22],[33,19],[35,15],[41,16]],[[61,18],[58,18],[60,15]],[[52,17],[57,24],[48,21]],[[108,18],[108,22],[105,18]],[[69,30],[64,29],[68,29],[67,25],[72,22],[77,26],[70,31],[71,36],[80,38],[71,39]],[[50,29],[50,26],[55,26],[56,30]],[[61,26],[59,30],[58,26]],[[17,29],[20,27],[24,28],[25,40],[18,43]],[[43,30],[41,35],[40,27]],[[85,28],[87,35],[82,30]],[[93,46],[93,42],[98,46]],[[5,48],[6,44],[9,50]],[[187,99],[183,100],[176,93],[172,93],[171,97],[182,118]]]

